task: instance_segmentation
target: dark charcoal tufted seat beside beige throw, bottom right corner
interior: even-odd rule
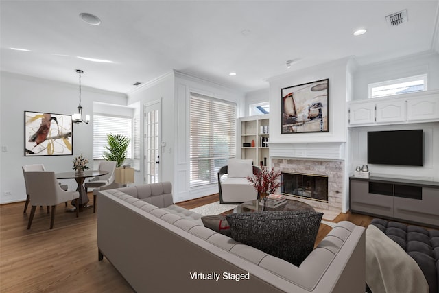
[[[418,263],[429,292],[439,293],[439,231],[383,219],[373,219],[370,224],[399,244]]]

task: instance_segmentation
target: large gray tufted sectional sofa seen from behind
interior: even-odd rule
[[[364,228],[338,223],[297,267],[212,231],[171,183],[99,191],[97,245],[136,292],[364,292]]]

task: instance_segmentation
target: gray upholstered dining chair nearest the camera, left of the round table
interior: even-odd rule
[[[31,198],[31,211],[27,229],[30,229],[34,219],[36,206],[51,207],[50,228],[54,228],[56,205],[69,200],[75,200],[78,207],[80,193],[78,191],[64,191],[56,180],[55,172],[51,171],[29,171],[25,172],[25,180],[29,196]],[[76,217],[79,216],[79,209],[76,209]]]

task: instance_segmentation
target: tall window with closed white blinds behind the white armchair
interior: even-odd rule
[[[191,93],[191,187],[217,183],[219,168],[236,152],[236,105]]]

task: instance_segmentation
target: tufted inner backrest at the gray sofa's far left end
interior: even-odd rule
[[[174,203],[172,198],[172,185],[170,182],[122,187],[118,190],[160,208],[169,207]]]

